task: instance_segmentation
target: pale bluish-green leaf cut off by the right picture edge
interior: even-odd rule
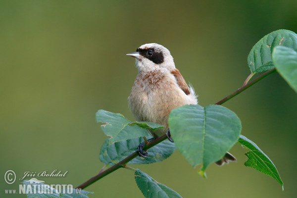
[[[297,92],[297,51],[278,46],[272,52],[272,59],[277,71]]]

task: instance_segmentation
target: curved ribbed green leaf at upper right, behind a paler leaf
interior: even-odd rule
[[[250,50],[247,64],[252,73],[274,68],[271,53],[276,46],[286,46],[297,50],[297,34],[290,30],[277,30],[264,36]]]

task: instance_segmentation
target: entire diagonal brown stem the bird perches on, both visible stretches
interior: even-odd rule
[[[245,91],[247,88],[249,88],[250,86],[252,86],[253,84],[257,83],[258,81],[260,81],[261,79],[263,79],[264,77],[268,76],[269,74],[272,74],[273,72],[275,72],[275,68],[268,70],[266,72],[264,72],[263,74],[259,75],[257,78],[255,78],[254,80],[252,80],[251,82],[247,83],[250,78],[252,77],[252,74],[250,74],[247,77],[247,80],[245,81],[245,83],[243,84],[243,86],[239,89],[237,89],[235,92],[233,92],[232,94],[230,94],[229,96],[225,97],[224,99],[221,99],[220,101],[216,102],[215,104],[223,104],[224,102],[228,101],[229,99],[232,99],[233,97],[239,95],[240,93],[242,93],[243,91]],[[166,134],[164,134],[163,136],[147,143],[144,147],[144,150],[147,150],[148,148],[151,148],[157,144],[159,144],[160,142],[164,141],[167,139]],[[147,142],[147,141],[146,141]],[[91,184],[97,182],[99,179],[105,177],[106,175],[112,173],[113,171],[119,169],[119,168],[123,168],[126,167],[126,164],[131,161],[132,159],[134,159],[135,157],[137,157],[138,154],[137,152],[133,152],[132,154],[130,154],[129,156],[127,156],[126,158],[124,158],[123,160],[121,160],[120,162],[118,162],[117,164],[114,164],[113,166],[107,168],[106,170],[104,170],[105,166],[103,166],[103,168],[100,170],[100,172],[90,178],[88,181],[86,181],[85,183],[79,185],[78,187],[76,187],[76,189],[85,189],[88,186],[90,186]],[[103,171],[104,170],[104,171]]]

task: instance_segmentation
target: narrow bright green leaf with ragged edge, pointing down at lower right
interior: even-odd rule
[[[269,157],[252,141],[248,140],[245,136],[241,135],[238,142],[246,147],[249,151],[246,153],[248,159],[245,166],[254,168],[266,175],[275,179],[284,190],[283,181]]]

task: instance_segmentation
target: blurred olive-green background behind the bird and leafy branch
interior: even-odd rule
[[[0,197],[14,170],[68,171],[46,184],[78,186],[103,164],[106,137],[99,109],[134,120],[127,97],[137,74],[126,53],[145,43],[167,47],[196,89],[200,105],[239,88],[247,54],[266,34],[297,32],[296,0],[3,0],[0,1]],[[274,73],[224,105],[242,120],[242,134],[275,163],[285,191],[272,178],[237,163],[210,165],[201,178],[178,151],[161,163],[132,165],[185,198],[297,196],[297,95]],[[27,177],[26,179],[30,179]],[[120,169],[86,190],[90,198],[142,197],[133,172]]]

